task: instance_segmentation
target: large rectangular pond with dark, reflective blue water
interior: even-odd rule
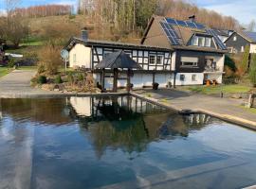
[[[132,96],[0,99],[0,188],[243,188],[255,144]]]

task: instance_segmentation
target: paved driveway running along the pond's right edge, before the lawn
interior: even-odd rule
[[[159,103],[174,108],[175,110],[193,110],[207,112],[211,115],[252,125],[256,128],[256,113],[242,108],[244,100],[221,98],[206,94],[195,94],[178,90],[141,90],[136,94],[157,100]]]

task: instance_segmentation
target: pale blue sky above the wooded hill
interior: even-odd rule
[[[0,9],[4,9],[0,0]],[[77,0],[20,0],[23,7],[44,4],[76,5]],[[235,17],[241,24],[256,21],[256,0],[187,0],[200,8],[213,9],[223,15]]]

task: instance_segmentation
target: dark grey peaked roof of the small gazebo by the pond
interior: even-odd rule
[[[142,69],[135,60],[132,60],[129,55],[125,54],[123,51],[108,54],[99,64],[96,65],[96,68]]]

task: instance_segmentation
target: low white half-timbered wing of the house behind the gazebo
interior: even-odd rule
[[[93,70],[94,77],[98,82],[101,81],[101,70],[95,69],[95,66],[107,54],[120,50],[130,55],[143,69],[133,71],[131,83],[134,88],[150,87],[154,81],[159,84],[159,87],[166,87],[168,81],[171,82],[174,73],[174,66],[172,66],[172,50],[167,48],[72,38],[66,46],[66,49],[69,51],[69,66]],[[119,87],[126,86],[125,72],[125,70],[120,71],[118,80]],[[105,88],[112,88],[112,71],[106,70],[105,77]]]

